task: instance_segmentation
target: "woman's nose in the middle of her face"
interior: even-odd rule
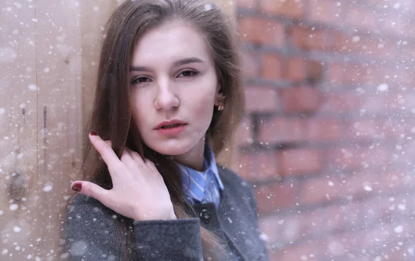
[[[172,84],[168,80],[160,81],[157,87],[157,97],[154,101],[156,110],[171,110],[180,104],[178,97],[172,90]]]

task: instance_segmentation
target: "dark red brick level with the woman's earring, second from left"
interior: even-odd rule
[[[320,91],[310,87],[284,88],[279,97],[286,113],[315,113],[322,99]]]

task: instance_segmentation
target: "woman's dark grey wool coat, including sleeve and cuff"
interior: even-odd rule
[[[233,260],[268,261],[258,228],[252,186],[236,173],[218,166],[224,190],[221,204],[194,204],[192,218],[133,222],[135,260],[203,260],[200,225],[225,243]],[[124,260],[116,213],[98,200],[75,195],[66,211],[64,236],[68,260]]]

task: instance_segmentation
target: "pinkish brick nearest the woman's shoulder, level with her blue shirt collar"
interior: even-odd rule
[[[250,182],[281,179],[275,151],[243,151],[238,164],[238,174]]]

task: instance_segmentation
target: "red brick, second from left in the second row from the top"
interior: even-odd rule
[[[288,36],[295,48],[302,50],[324,50],[328,34],[315,27],[293,26]]]

